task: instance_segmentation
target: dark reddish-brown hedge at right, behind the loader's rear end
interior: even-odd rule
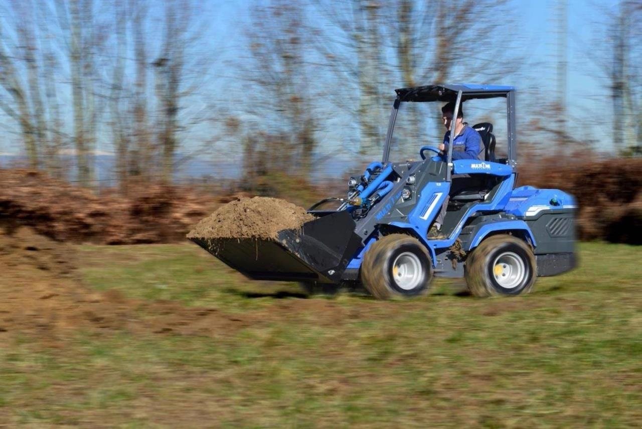
[[[546,158],[519,173],[520,184],[575,196],[580,239],[642,244],[642,159]]]

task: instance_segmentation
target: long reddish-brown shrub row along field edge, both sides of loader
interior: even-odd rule
[[[575,160],[575,161],[573,161]],[[309,204],[322,195],[302,180],[272,178],[271,194]],[[589,161],[550,157],[519,168],[519,184],[557,188],[577,198],[582,240],[642,244],[642,159]],[[282,189],[283,188],[283,189]],[[288,188],[288,189],[285,189]],[[168,243],[185,240],[199,220],[232,197],[160,184],[94,195],[87,189],[28,170],[0,169],[0,218],[71,242]]]

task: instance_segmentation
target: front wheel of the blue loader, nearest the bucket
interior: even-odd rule
[[[433,264],[428,250],[419,240],[405,234],[380,238],[361,263],[363,286],[377,299],[424,295],[432,279]]]

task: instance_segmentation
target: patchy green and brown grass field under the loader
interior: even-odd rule
[[[640,247],[584,243],[580,268],[523,297],[440,281],[389,302],[250,282],[195,245],[78,252],[91,288],[221,311],[225,328],[19,337],[0,349],[0,423],[642,426]]]

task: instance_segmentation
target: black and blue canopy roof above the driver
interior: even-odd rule
[[[401,101],[455,101],[458,91],[462,91],[462,101],[465,101],[472,98],[505,98],[508,92],[515,91],[515,88],[505,85],[455,83],[395,89]]]

